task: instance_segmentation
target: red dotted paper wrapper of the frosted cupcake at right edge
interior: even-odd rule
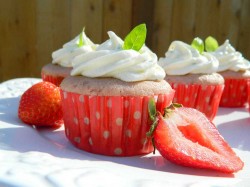
[[[221,107],[244,107],[247,103],[247,79],[225,79]]]

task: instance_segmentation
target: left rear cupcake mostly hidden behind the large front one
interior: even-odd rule
[[[95,50],[96,45],[86,36],[84,30],[75,39],[63,45],[62,49],[52,53],[52,63],[43,66],[43,81],[57,86],[70,75],[72,59],[76,56]]]

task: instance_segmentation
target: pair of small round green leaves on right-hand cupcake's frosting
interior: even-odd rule
[[[201,38],[196,37],[193,39],[191,46],[194,49],[197,49],[200,54],[202,54],[204,51],[213,52],[219,47],[217,40],[212,36],[208,36],[205,39],[205,43]]]

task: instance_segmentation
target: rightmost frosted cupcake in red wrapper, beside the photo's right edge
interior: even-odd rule
[[[243,107],[247,104],[247,81],[250,79],[250,62],[226,40],[210,52],[219,61],[217,72],[225,79],[221,97],[222,107]]]

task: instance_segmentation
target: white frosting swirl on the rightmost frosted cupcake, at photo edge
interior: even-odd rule
[[[218,72],[225,70],[245,71],[250,69],[250,62],[233,48],[229,40],[226,40],[223,45],[219,46],[211,54],[219,60]]]

